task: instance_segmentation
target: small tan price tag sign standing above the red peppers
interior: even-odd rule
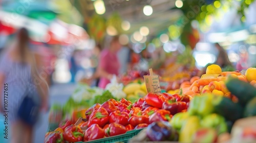
[[[150,69],[150,75],[144,76],[147,93],[161,93],[159,77],[153,75],[152,68]]]

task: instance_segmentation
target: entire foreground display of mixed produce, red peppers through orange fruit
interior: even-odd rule
[[[256,87],[255,74],[248,72],[254,74],[250,68],[243,75],[210,65],[205,75],[183,81],[179,90],[146,93],[139,80],[123,86],[126,99],[104,90],[91,99],[94,105],[73,112],[73,120],[66,118],[48,132],[45,142],[100,141],[138,129],[142,130],[130,142],[253,142]],[[82,121],[77,123],[79,117]]]

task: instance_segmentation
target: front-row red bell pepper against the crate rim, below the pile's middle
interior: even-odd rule
[[[109,128],[105,129],[105,134],[107,136],[115,136],[119,134],[124,134],[127,132],[127,129],[118,123],[110,123]]]

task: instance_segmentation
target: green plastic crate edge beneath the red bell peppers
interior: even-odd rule
[[[137,129],[137,130],[131,130],[131,131],[127,131],[125,134],[111,136],[111,137],[105,137],[105,138],[101,138],[101,139],[95,139],[92,141],[86,141],[86,142],[78,141],[76,143],[111,143],[111,142],[127,143],[133,136],[137,135],[143,129],[144,128]]]

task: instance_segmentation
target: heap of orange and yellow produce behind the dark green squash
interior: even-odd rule
[[[192,97],[198,96],[202,93],[213,93],[228,97],[236,101],[237,98],[231,94],[225,85],[228,77],[233,77],[241,81],[249,82],[247,81],[246,76],[242,75],[239,71],[222,71],[219,65],[212,64],[206,68],[206,74],[202,75],[201,77],[194,76],[189,81],[181,83],[180,89],[168,90],[167,92],[178,93],[180,90],[182,90],[183,94]],[[252,80],[250,84],[254,86],[254,82],[255,81]],[[233,85],[233,83],[228,84],[228,86],[229,85]],[[233,87],[237,88],[236,86]]]

